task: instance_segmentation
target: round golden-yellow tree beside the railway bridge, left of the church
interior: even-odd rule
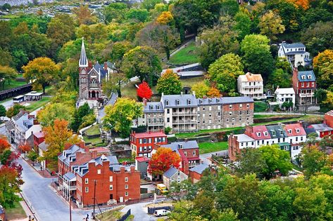
[[[46,85],[59,79],[60,68],[50,58],[35,58],[23,70],[25,79],[32,80],[34,87],[42,86],[43,93]]]

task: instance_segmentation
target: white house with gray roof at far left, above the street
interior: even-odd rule
[[[27,140],[34,133],[41,131],[42,126],[38,123],[37,118],[30,115],[29,112],[21,111],[9,121],[6,121],[6,135],[15,148],[20,145],[31,145],[32,147],[33,139],[30,139],[32,143],[27,143]]]

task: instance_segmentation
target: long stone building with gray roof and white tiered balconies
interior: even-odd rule
[[[253,123],[253,109],[253,99],[249,97],[162,95],[161,102],[144,101],[144,114],[138,121],[148,130],[170,127],[174,133],[246,126]]]

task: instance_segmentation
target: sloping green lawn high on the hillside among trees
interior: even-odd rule
[[[199,62],[199,48],[196,47],[194,41],[191,41],[187,47],[172,55],[169,63],[172,65],[192,64]]]

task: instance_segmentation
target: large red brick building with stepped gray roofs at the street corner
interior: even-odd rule
[[[84,207],[140,198],[140,172],[105,153],[89,151],[84,143],[65,145],[58,156],[58,181],[65,199],[73,197]]]

